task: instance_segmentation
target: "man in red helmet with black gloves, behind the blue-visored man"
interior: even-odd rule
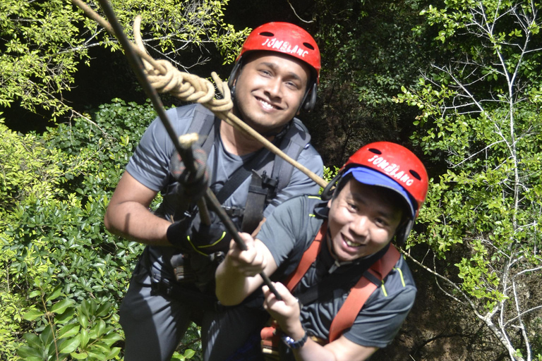
[[[320,52],[308,32],[289,23],[267,23],[246,39],[229,84],[234,114],[321,176],[322,159],[310,145],[306,128],[294,118],[302,107],[314,106],[319,74]],[[209,186],[239,229],[250,233],[277,204],[318,192],[318,185],[301,171],[203,106],[170,109],[168,116],[177,134],[202,135],[207,159],[198,159],[206,160]],[[126,361],[170,360],[192,321],[202,325],[205,360],[220,360],[236,349],[223,334],[243,333],[230,322],[234,316],[229,317],[229,310],[219,309],[214,293],[216,264],[227,252],[229,238],[222,239],[224,228],[217,221],[202,226],[194,193],[204,189],[205,181],[186,184],[179,178],[182,168],[156,119],[128,162],[105,214],[109,231],[147,245],[120,309]],[[150,212],[158,192],[162,203]],[[243,212],[245,207],[251,212]]]

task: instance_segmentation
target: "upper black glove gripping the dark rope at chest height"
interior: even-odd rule
[[[189,172],[179,155],[174,152],[169,161],[169,171],[178,182],[176,192],[188,202],[195,202],[203,197],[209,183],[207,174],[207,154],[198,145],[192,145],[195,172]]]

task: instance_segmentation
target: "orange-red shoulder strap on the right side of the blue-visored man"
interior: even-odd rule
[[[347,300],[335,315],[330,327],[330,342],[339,338],[344,330],[349,329],[358,317],[361,308],[368,300],[369,296],[376,290],[376,285],[370,279],[376,278],[379,283],[385,279],[387,274],[392,271],[401,254],[394,245],[390,245],[385,255],[378,259],[371,268],[369,268],[359,279],[354,287],[351,288]]]

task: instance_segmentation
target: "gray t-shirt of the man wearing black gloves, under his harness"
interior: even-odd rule
[[[178,111],[178,109],[169,109],[167,116],[174,132],[178,135],[187,133],[195,111],[200,111],[202,108],[203,106],[200,104],[192,104],[183,106],[180,109],[181,111]],[[169,216],[174,214],[176,203],[183,202],[174,192],[171,192],[174,180],[170,176],[169,162],[174,152],[173,142],[169,139],[169,135],[162,122],[157,118],[145,130],[145,134],[126,166],[126,171],[136,181],[151,190],[162,192],[164,200],[160,209],[163,216],[168,219]],[[207,158],[207,170],[210,173],[210,188],[215,193],[218,192],[229,176],[252,156],[253,154],[237,156],[227,152],[224,149],[219,134],[216,134]],[[323,161],[320,154],[316,152],[312,145],[306,145],[297,160],[318,176],[323,175]],[[250,177],[247,178],[224,202],[224,206],[244,207],[250,181]],[[296,195],[318,193],[319,189],[320,186],[314,183],[308,176],[298,169],[294,169],[289,184],[267,205],[263,215],[265,217],[269,216],[277,204],[284,202],[284,200]],[[150,257],[145,261],[152,263],[152,275],[155,276],[155,279],[165,276],[167,279],[173,280],[174,276],[171,270],[167,270],[166,274],[163,274],[163,264],[166,262],[166,268],[168,268],[167,259],[171,255],[178,254],[179,251],[174,247],[147,247],[147,252],[149,252]]]

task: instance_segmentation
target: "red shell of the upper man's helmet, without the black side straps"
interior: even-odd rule
[[[294,56],[308,64],[320,78],[320,50],[315,40],[301,27],[291,23],[267,23],[256,27],[245,40],[239,61],[247,51],[267,50]]]

